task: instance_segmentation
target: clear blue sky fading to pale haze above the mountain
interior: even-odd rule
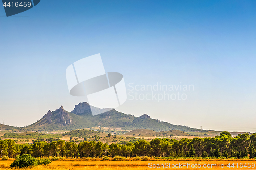
[[[256,132],[255,30],[256,1],[42,0],[10,17],[0,7],[0,123],[72,111],[84,99],[69,95],[65,70],[100,53],[126,85],[194,85],[186,100],[127,100],[116,110]]]

